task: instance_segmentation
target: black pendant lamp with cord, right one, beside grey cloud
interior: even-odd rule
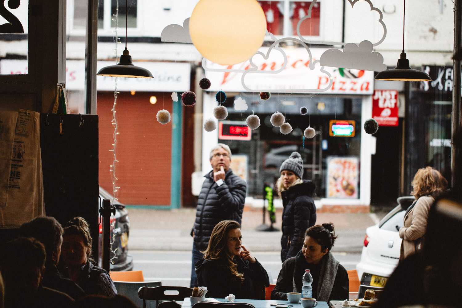
[[[409,66],[409,60],[404,52],[404,17],[406,14],[406,0],[404,0],[403,13],[403,51],[401,52],[398,64],[394,69],[379,72],[375,80],[393,80],[393,81],[432,81],[426,72],[414,70]]]

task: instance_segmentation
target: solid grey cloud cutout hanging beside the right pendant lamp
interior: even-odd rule
[[[382,72],[387,66],[383,64],[382,54],[372,51],[373,48],[369,41],[362,41],[359,45],[348,43],[343,47],[343,52],[336,48],[324,51],[320,63],[322,66]]]

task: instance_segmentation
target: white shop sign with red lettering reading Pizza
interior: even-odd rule
[[[267,54],[267,47],[260,48],[260,52]],[[306,89],[305,93],[319,93],[317,89],[323,89],[329,84],[328,76],[320,71],[319,63],[315,69],[310,69],[310,58],[305,48],[283,48],[287,55],[286,68],[279,73],[248,73],[244,82],[250,89],[272,89],[278,90]],[[310,48],[313,61],[318,60],[326,48]],[[257,55],[253,58],[253,63],[258,70],[274,72],[279,70],[284,64],[284,58],[280,52],[273,49],[268,59]],[[207,61],[207,66],[212,69],[225,68],[245,70],[250,67],[250,62],[243,62],[233,66],[221,66]],[[332,76],[332,86],[325,92],[326,94],[361,94],[370,95],[374,92],[374,72],[339,69],[335,67],[325,67],[325,71]],[[243,88],[241,79],[242,72],[210,72],[206,71],[206,77],[212,82],[208,91],[237,91],[246,92]],[[257,91],[255,91],[257,92]]]

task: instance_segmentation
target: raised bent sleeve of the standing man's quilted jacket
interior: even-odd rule
[[[230,215],[233,212],[244,208],[245,194],[247,184],[242,179],[238,178],[233,187],[229,187],[225,182],[216,188],[218,194],[217,203],[225,213]]]

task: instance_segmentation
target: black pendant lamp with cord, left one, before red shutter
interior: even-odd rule
[[[127,49],[127,27],[128,27],[128,0],[125,2],[125,50],[120,56],[116,65],[103,67],[97,73],[98,76],[127,77],[127,78],[152,78],[151,72],[146,68],[134,66],[132,56]]]

